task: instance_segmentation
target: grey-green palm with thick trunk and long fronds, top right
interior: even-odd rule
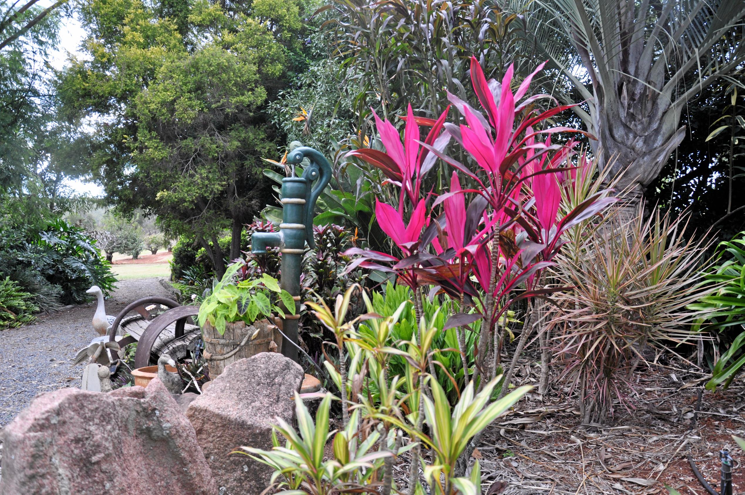
[[[745,1],[537,0],[529,8],[529,45],[586,100],[574,112],[595,137],[600,167],[620,176],[635,205],[685,138],[685,103],[743,65]]]

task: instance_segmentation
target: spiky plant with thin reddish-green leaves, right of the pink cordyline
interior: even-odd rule
[[[586,226],[583,242],[554,258],[554,278],[573,288],[555,297],[548,325],[585,422],[603,422],[615,400],[633,407],[624,391],[641,351],[691,343],[701,314],[685,307],[713,290],[701,283],[708,241],[686,240],[687,217],[619,218]]]

